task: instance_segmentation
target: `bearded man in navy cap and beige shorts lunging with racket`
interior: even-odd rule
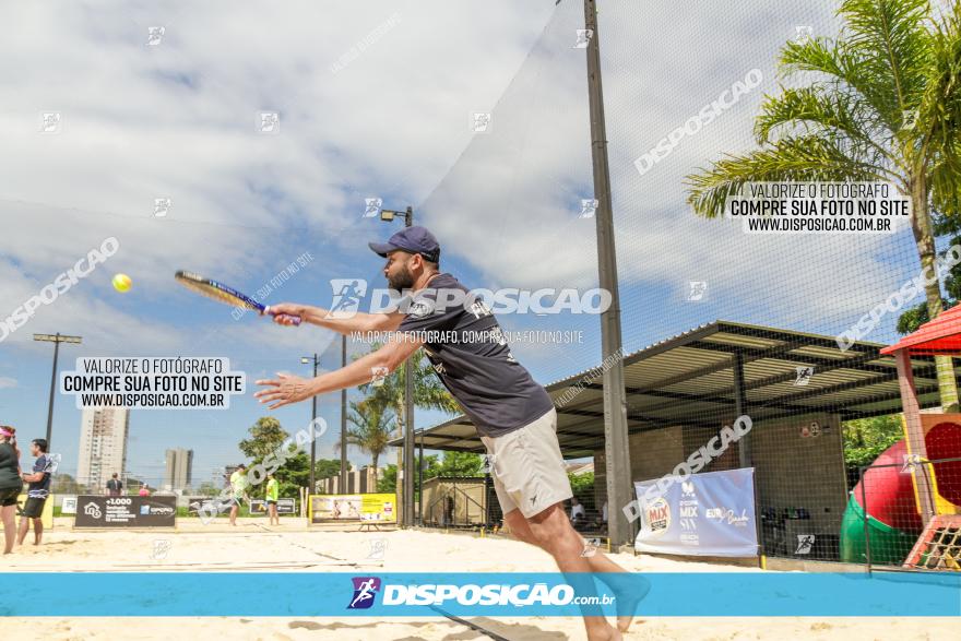
[[[561,572],[605,572],[597,578],[615,591],[619,606],[631,606],[643,595],[621,595],[610,573],[625,572],[600,551],[585,545],[571,527],[563,502],[571,487],[557,441],[557,413],[550,396],[513,357],[493,312],[472,299],[452,275],[440,273],[440,246],[424,227],[407,227],[385,244],[370,248],[387,259],[383,274],[390,287],[408,289],[406,309],[392,313],[336,313],[297,304],[271,306],[275,322],[293,324],[300,317],[342,334],[390,332],[378,351],[339,370],[313,379],[278,373],[259,380],[265,388],[254,394],[271,409],[371,382],[393,371],[424,347],[444,387],[471,418],[490,454],[494,484],[505,522],[520,539],[549,553]],[[590,581],[589,581],[590,582]],[[620,639],[633,615],[618,608],[618,628],[588,614],[588,637]]]

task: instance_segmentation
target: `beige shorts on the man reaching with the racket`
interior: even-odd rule
[[[529,519],[573,496],[557,442],[557,411],[500,437],[480,437],[501,510]]]

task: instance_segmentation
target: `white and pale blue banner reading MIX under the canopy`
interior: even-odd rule
[[[687,480],[634,483],[641,508],[639,551],[749,557],[758,554],[754,468],[691,474]],[[652,498],[653,497],[653,498]]]

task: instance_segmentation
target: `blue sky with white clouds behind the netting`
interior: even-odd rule
[[[906,229],[880,236],[746,236],[696,218],[684,177],[751,149],[752,117],[775,92],[779,48],[798,25],[839,26],[833,2],[787,7],[602,3],[601,37],[624,339],[638,349],[717,318],[838,333],[917,272]],[[334,334],[285,329],[175,284],[189,269],[256,292],[309,251],[315,260],[268,298],[328,305],[330,280],[381,286],[367,241],[399,228],[363,217],[364,199],[412,204],[471,287],[596,285],[585,62],[573,49],[579,3],[40,3],[11,10],[0,43],[0,318],[104,238],[120,251],[0,342],[0,420],[32,438],[46,425],[50,344],[84,336],[81,356],[229,357],[248,381],[304,373],[301,355],[340,358]],[[146,45],[150,26],[165,27]],[[27,35],[28,34],[28,35]],[[332,68],[346,60],[343,68]],[[760,86],[644,175],[633,161],[751,69]],[[56,111],[62,129],[39,132]],[[280,133],[256,130],[280,112]],[[486,133],[473,112],[493,114]],[[154,199],[171,199],[165,218]],[[133,288],[110,287],[127,273]],[[688,301],[691,281],[709,283]],[[582,330],[574,345],[515,344],[544,383],[602,359],[594,316],[511,316],[509,330]],[[894,337],[893,317],[870,340]],[[360,348],[355,347],[356,348]],[[194,476],[236,463],[237,441],[266,414],[250,396],[228,411],[131,414],[128,467],[158,479],[166,448],[192,448]],[[320,412],[340,425],[339,394]],[[290,432],[309,403],[275,413]],[[419,412],[418,427],[443,418]],[[58,395],[54,450],[76,466],[80,413]],[[331,435],[336,429],[331,430]],[[333,455],[333,436],[320,443]],[[357,452],[354,463],[366,461]]]

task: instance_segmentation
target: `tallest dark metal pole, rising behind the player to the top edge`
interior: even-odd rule
[[[604,123],[604,91],[601,85],[601,47],[597,7],[584,0],[588,44],[588,96],[591,108],[591,158],[594,199],[597,200],[597,266],[601,287],[610,293],[610,307],[601,314],[602,361],[622,355],[620,342],[620,296],[617,287],[617,254],[610,204],[610,173],[607,165],[607,131]],[[604,452],[607,459],[607,535],[612,546],[632,543],[633,525],[622,508],[631,501],[630,454],[628,453],[627,403],[624,360],[618,358],[604,371]]]

